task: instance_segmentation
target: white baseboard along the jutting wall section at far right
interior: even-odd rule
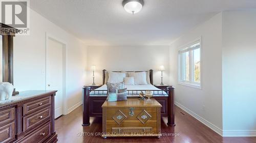
[[[224,130],[223,136],[256,136],[256,130]]]

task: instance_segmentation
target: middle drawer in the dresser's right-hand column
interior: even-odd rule
[[[23,118],[24,132],[30,130],[40,123],[49,120],[50,118],[50,107],[40,110],[34,115],[29,115]]]

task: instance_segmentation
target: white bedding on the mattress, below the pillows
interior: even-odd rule
[[[138,95],[134,95],[134,94],[136,94],[136,92],[140,93],[141,91],[145,91],[145,90],[154,91],[153,92],[154,96],[168,96],[164,91],[156,88],[152,84],[146,84],[146,85],[124,85],[124,88],[127,88],[127,96],[138,96]],[[91,91],[90,92],[90,96],[99,96],[102,93],[103,93],[103,95],[106,96],[106,90],[107,90],[106,84],[102,85],[101,87],[99,87],[98,89],[95,89],[95,90],[96,91],[97,90],[100,90],[100,91],[105,90],[105,91],[103,91],[101,93],[97,93],[97,92],[94,93],[94,91]],[[129,90],[134,90],[133,91],[134,93],[131,94],[131,92],[129,92]]]

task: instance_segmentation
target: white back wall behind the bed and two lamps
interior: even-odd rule
[[[160,83],[160,65],[164,65],[163,82],[169,82],[169,46],[88,46],[88,71],[96,65],[95,83],[102,84],[102,70],[154,70],[154,84]],[[89,83],[92,73],[88,72]]]

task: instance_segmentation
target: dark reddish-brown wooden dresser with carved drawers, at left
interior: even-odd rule
[[[56,92],[25,91],[9,101],[0,101],[0,142],[57,142]]]

